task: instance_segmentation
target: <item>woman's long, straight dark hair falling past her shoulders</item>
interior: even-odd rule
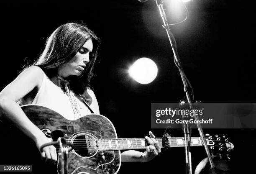
[[[80,76],[68,78],[70,89],[75,94],[87,93],[100,42],[95,33],[87,26],[77,23],[66,23],[59,26],[47,39],[43,53],[33,65],[43,69],[46,75],[51,78],[56,75],[57,68],[72,59],[90,38],[92,39],[93,50],[87,68]]]

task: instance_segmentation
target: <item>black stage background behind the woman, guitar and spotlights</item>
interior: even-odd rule
[[[83,22],[101,39],[92,88],[100,113],[112,120],[119,138],[148,135],[151,103],[176,103],[184,97],[166,31],[154,0],[108,1],[2,1],[2,90],[38,58],[46,38],[58,26]],[[192,0],[186,3],[188,19],[172,26],[177,49],[196,100],[205,103],[255,103],[254,54],[256,3],[242,0]],[[184,18],[168,8],[170,22]],[[153,59],[159,69],[154,82],[141,85],[127,69],[136,59]],[[154,129],[161,137],[164,129]],[[255,130],[205,130],[230,137],[234,173],[253,170]],[[182,130],[170,130],[182,136]],[[193,130],[193,136],[199,136]],[[204,157],[202,147],[191,148],[193,169]],[[122,163],[119,173],[184,173],[184,148],[163,150],[149,163]]]

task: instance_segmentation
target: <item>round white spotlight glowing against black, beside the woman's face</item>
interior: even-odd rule
[[[143,57],[136,60],[128,72],[138,83],[148,84],[156,78],[157,66],[153,60]]]

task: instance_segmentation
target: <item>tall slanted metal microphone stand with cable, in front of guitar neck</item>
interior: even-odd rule
[[[191,95],[191,88],[188,85],[187,77],[184,74],[183,67],[182,67],[181,61],[179,59],[176,40],[175,40],[174,35],[172,34],[172,32],[169,28],[169,24],[168,24],[167,19],[166,19],[166,13],[165,13],[165,10],[164,10],[164,3],[163,3],[162,0],[156,0],[156,5],[159,9],[161,18],[162,18],[163,23],[164,23],[163,27],[164,27],[164,29],[166,29],[170,44],[172,46],[172,51],[173,51],[173,54],[174,54],[174,63],[176,64],[176,66],[179,69],[179,73],[180,73],[180,76],[182,78],[182,82],[183,82],[183,85],[184,85],[184,92],[186,94],[187,102],[189,103],[190,109],[193,109],[192,100],[191,100],[191,98],[193,98],[193,96]],[[195,117],[195,120],[199,120],[197,115],[195,115],[194,117]],[[185,119],[185,115],[182,115],[182,119]],[[197,122],[197,129],[200,133],[200,137],[202,138],[203,145],[205,147],[205,151],[206,151],[207,157],[208,157],[209,162],[210,162],[212,174],[216,174],[215,166],[213,164],[213,161],[212,161],[212,158],[211,158],[211,155],[210,155],[210,151],[207,147],[207,143],[206,143],[205,136],[204,136],[204,133],[203,133],[203,130],[202,130],[202,126],[198,122]],[[185,156],[186,156],[187,174],[192,174],[191,154],[190,154],[190,151],[189,151],[189,146],[190,146],[189,125],[187,125],[185,123],[183,123],[183,133],[184,133],[184,141],[185,141]]]

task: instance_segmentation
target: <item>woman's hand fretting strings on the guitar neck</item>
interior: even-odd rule
[[[154,157],[156,157],[161,152],[159,143],[156,141],[155,139],[156,137],[151,131],[149,131],[149,136],[150,137],[148,136],[145,137],[150,145],[146,146],[146,151],[141,156],[143,162],[151,161],[152,159],[154,159]]]

